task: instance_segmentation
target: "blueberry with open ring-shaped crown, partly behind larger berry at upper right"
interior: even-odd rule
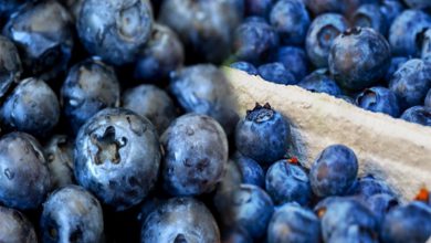
[[[330,46],[347,28],[347,20],[337,13],[324,13],[313,20],[305,39],[305,51],[316,67],[328,66]]]

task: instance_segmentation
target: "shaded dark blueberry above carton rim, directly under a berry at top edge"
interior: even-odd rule
[[[281,46],[271,54],[270,60],[282,63],[297,81],[304,78],[308,73],[307,55],[302,47]]]

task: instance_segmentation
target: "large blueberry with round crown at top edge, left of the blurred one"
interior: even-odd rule
[[[148,0],[85,0],[76,23],[86,50],[115,65],[136,59],[149,40],[151,28],[153,10]]]

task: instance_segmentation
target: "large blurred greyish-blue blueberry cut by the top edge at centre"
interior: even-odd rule
[[[241,18],[236,4],[225,0],[167,0],[159,12],[159,22],[178,33],[188,56],[212,63],[221,63],[230,54]]]

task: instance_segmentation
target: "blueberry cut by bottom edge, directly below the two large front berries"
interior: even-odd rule
[[[172,198],[148,215],[140,242],[220,242],[220,232],[203,203],[192,198]]]

